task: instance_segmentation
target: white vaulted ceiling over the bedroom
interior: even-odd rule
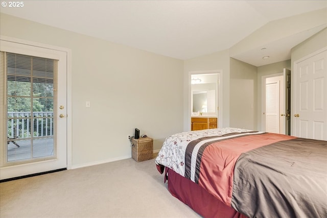
[[[322,8],[327,1],[24,1],[0,12],[186,60],[229,49],[272,20]],[[290,49],[320,29],[268,43],[278,54],[270,62],[290,59]],[[234,57],[262,65],[255,49]]]

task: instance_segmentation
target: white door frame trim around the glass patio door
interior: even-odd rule
[[[19,39],[14,37],[8,37],[0,35],[0,39],[3,41],[20,43],[35,47],[40,47],[44,49],[56,50],[60,52],[66,53],[66,161],[67,161],[67,169],[72,168],[72,50],[67,49],[65,47],[59,47],[50,44],[44,44],[34,41],[29,41],[25,39]]]

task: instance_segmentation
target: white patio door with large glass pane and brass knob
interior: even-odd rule
[[[66,168],[66,52],[1,40],[1,179]]]

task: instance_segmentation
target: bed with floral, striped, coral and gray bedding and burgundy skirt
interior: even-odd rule
[[[165,139],[171,194],[203,217],[327,217],[327,141],[219,128]]]

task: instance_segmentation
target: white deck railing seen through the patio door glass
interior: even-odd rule
[[[52,136],[53,112],[8,112],[8,137],[30,138]]]

